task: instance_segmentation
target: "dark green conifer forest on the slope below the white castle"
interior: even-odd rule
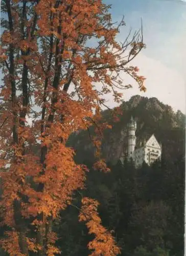
[[[90,165],[91,166],[91,165]],[[87,189],[77,193],[98,199],[103,225],[111,230],[121,247],[121,255],[168,256],[184,252],[184,159],[144,164],[119,161],[108,174],[89,172]],[[87,229],[78,223],[78,209],[62,212],[61,255],[88,255]],[[75,246],[76,245],[76,246]],[[72,248],[74,248],[72,250]]]

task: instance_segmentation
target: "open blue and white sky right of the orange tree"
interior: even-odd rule
[[[133,88],[125,90],[123,100],[139,94],[156,97],[172,106],[174,111],[186,114],[186,0],[104,0],[111,4],[114,21],[125,16],[118,40],[125,39],[127,32],[141,27],[143,20],[144,42],[147,48],[134,59],[139,73],[146,77],[147,92]],[[127,77],[123,77],[126,82]],[[111,96],[107,105],[115,106]]]

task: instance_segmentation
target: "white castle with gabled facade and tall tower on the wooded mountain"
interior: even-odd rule
[[[136,147],[136,121],[131,117],[128,123],[128,143],[127,143],[127,159],[133,159],[135,167],[141,167],[145,161],[148,165],[151,165],[154,161],[161,158],[161,146],[157,142],[154,135],[150,139],[141,145]],[[122,162],[124,157],[121,158]]]

